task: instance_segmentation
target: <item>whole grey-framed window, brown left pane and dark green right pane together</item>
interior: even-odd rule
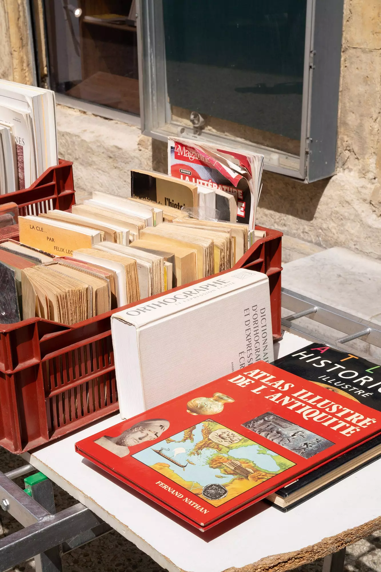
[[[315,181],[335,172],[342,21],[343,0],[45,0],[50,86]]]

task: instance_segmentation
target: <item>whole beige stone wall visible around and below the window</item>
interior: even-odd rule
[[[11,32],[25,34],[23,2],[0,0],[0,77],[30,83],[27,45]],[[343,246],[375,258],[381,258],[380,21],[381,0],[346,0],[336,175],[306,185],[264,172],[257,218],[316,247]],[[132,167],[166,170],[166,145],[135,126],[63,106],[57,121],[59,156],[74,161],[80,199],[93,189],[129,194]]]

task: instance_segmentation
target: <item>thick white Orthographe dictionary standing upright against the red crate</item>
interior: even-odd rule
[[[257,360],[273,361],[268,277],[227,272],[116,312],[111,329],[127,419]]]

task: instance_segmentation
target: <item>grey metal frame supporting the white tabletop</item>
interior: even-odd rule
[[[311,341],[329,344],[336,349],[348,350],[346,343],[360,339],[381,348],[381,326],[301,296],[282,288],[282,307],[291,311],[282,320],[286,331],[299,333]],[[295,320],[308,317],[324,324],[344,336],[324,340],[312,336]],[[356,350],[356,355],[370,356]],[[371,358],[381,365],[381,359]],[[27,464],[6,474],[0,472],[0,506],[24,527],[22,530],[0,539],[0,572],[26,559],[35,560],[36,572],[62,572],[61,557],[94,538],[108,533],[112,528],[81,503],[55,513],[53,484],[39,473],[34,479],[25,479],[26,489],[13,482],[19,476],[34,471]],[[342,572],[346,549],[324,558],[323,572]]]

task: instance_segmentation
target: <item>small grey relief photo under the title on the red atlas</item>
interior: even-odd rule
[[[271,411],[243,423],[243,427],[255,431],[304,459],[309,459],[334,444]]]

